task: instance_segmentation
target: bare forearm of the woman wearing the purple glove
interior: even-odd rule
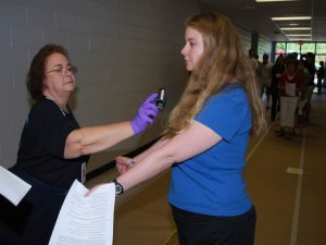
[[[135,135],[130,122],[82,127],[73,131],[65,144],[64,157],[76,158],[99,152]]]

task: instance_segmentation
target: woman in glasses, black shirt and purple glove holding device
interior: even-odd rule
[[[76,72],[58,45],[46,45],[32,61],[27,89],[36,102],[22,132],[17,162],[10,169],[32,188],[17,207],[1,199],[1,244],[47,245],[71,185],[85,182],[89,155],[142,132],[158,114],[153,94],[131,121],[79,127],[67,106]]]

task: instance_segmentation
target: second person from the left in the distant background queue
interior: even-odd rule
[[[268,54],[263,54],[263,62],[260,63],[258,70],[259,81],[262,87],[262,97],[266,95],[266,109],[269,109],[271,100],[271,82],[272,82],[272,68],[273,63],[268,61]]]

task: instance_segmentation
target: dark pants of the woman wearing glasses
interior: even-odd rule
[[[66,191],[39,182],[15,168],[11,171],[32,188],[17,207],[0,198],[0,243],[48,245]]]

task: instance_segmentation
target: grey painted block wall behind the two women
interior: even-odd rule
[[[66,47],[78,66],[70,105],[82,126],[130,120],[147,96],[167,89],[155,124],[93,155],[89,169],[156,138],[185,86],[184,21],[199,10],[196,0],[0,0],[0,164],[15,163],[30,109],[25,76],[48,42]]]

